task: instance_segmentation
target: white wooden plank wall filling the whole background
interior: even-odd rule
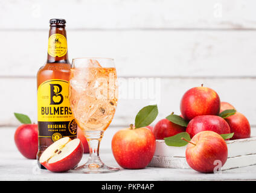
[[[254,127],[255,5],[252,0],[2,0],[0,125],[18,125],[13,112],[36,121],[35,77],[46,60],[48,21],[63,17],[69,59],[115,59],[121,96],[112,125],[129,125],[141,107],[155,102],[158,119],[179,113],[183,93],[204,83]],[[155,78],[156,84],[149,84],[155,92],[128,97],[136,92],[128,89],[129,80],[149,83],[144,77]]]

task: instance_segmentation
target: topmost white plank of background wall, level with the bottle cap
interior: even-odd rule
[[[45,29],[63,17],[69,28],[255,28],[253,0],[0,1],[1,29]]]

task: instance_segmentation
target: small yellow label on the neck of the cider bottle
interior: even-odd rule
[[[62,57],[68,51],[66,37],[62,34],[53,34],[48,39],[48,54],[53,57]]]

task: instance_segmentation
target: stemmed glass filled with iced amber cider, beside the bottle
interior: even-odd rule
[[[69,101],[78,126],[89,145],[89,159],[71,172],[113,172],[99,156],[103,133],[114,118],[118,100],[117,71],[113,59],[73,59],[69,78]]]

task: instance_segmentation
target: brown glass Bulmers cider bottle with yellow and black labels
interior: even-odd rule
[[[66,136],[77,138],[77,123],[68,99],[71,65],[65,24],[65,19],[50,20],[47,61],[37,72],[37,160],[58,139]],[[40,163],[39,167],[44,168]]]

